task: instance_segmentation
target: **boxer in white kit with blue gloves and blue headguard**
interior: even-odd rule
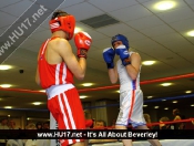
[[[141,56],[129,51],[130,43],[122,34],[111,40],[112,48],[103,50],[103,58],[108,64],[109,77],[112,84],[120,80],[120,113],[116,129],[126,129],[131,124],[136,129],[149,129],[143,116],[143,93],[140,87]],[[114,56],[120,60],[114,66]],[[161,146],[159,139],[149,139],[153,146]],[[132,146],[132,139],[123,139],[124,146]]]

